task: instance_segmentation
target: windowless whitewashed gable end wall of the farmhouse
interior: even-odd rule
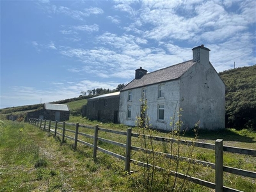
[[[225,128],[225,84],[209,61],[196,63],[180,77],[184,127]]]

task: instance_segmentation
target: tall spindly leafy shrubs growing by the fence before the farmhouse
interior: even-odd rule
[[[138,179],[139,182],[136,183],[136,187],[140,191],[187,191],[188,188],[185,186],[188,180],[179,179],[177,173],[185,177],[193,176],[199,170],[200,165],[192,163],[193,157],[195,157],[193,153],[195,145],[187,146],[188,148],[184,149],[180,143],[182,135],[185,133],[182,132],[180,120],[182,109],[179,109],[178,119],[175,119],[176,114],[172,117],[172,122],[169,125],[170,132],[164,136],[170,142],[157,145],[154,141],[157,131],[154,131],[150,125],[147,100],[141,102],[141,112],[137,116],[136,125],[140,127],[138,132],[140,133],[139,139],[142,150],[137,156],[139,161],[145,163],[145,166],[142,171],[143,177]],[[196,128],[198,129],[198,125]],[[196,141],[197,129],[194,130],[193,142]],[[165,154],[173,158],[166,158]],[[184,157],[187,159],[182,159]]]

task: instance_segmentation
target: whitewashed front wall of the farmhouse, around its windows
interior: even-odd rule
[[[170,131],[170,122],[177,120],[180,100],[180,81],[168,81],[164,84],[164,98],[158,98],[159,84],[147,86],[147,106],[150,125],[153,128],[163,131]],[[132,101],[128,101],[129,90],[120,93],[120,113],[119,120],[121,124],[135,126],[136,116],[140,116],[142,88],[132,90]],[[127,118],[127,106],[131,104],[131,119]],[[164,121],[157,120],[157,106],[164,104]],[[172,119],[171,119],[172,118]]]

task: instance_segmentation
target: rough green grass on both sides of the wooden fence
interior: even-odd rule
[[[93,126],[99,124],[77,116],[71,116],[70,122]],[[126,131],[128,128],[118,124],[99,125],[120,131]],[[132,128],[132,132],[136,131],[139,130]],[[157,136],[166,136],[166,133],[154,133]],[[111,140],[122,140],[111,134],[102,133],[100,136]],[[182,136],[187,140],[194,137],[191,132]],[[214,143],[218,138],[223,139],[224,145],[256,149],[256,133],[245,129],[202,131],[198,135],[198,141],[208,143]],[[119,152],[118,148],[111,145],[105,143],[99,145]],[[133,142],[132,145],[140,145],[140,143]],[[195,150],[194,155],[198,159],[214,162],[214,152]],[[0,191],[147,191],[143,186],[145,172],[142,168],[132,164],[134,173],[129,175],[124,172],[124,161],[102,152],[98,152],[96,161],[93,161],[92,157],[92,148],[78,145],[77,150],[74,150],[72,141],[66,140],[65,143],[61,143],[60,138],[54,138],[52,134],[38,129],[35,125],[0,121]],[[256,172],[255,157],[225,153],[224,164]],[[214,180],[214,173],[207,168],[202,168],[201,172],[199,170],[193,174],[205,180]],[[161,180],[160,177],[161,175],[157,179]],[[256,191],[255,182],[255,179],[225,174],[225,186],[241,191]],[[161,183],[152,191],[159,191],[159,185]],[[178,185],[174,191],[179,191]],[[186,182],[182,191],[212,190]]]

